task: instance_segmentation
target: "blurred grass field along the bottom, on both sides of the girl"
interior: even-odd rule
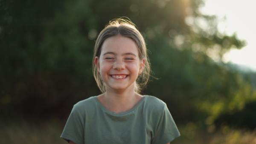
[[[234,130],[227,127],[208,132],[178,126],[181,136],[171,144],[256,144],[256,130]],[[60,138],[63,126],[58,122],[40,125],[0,123],[0,144],[67,144]]]

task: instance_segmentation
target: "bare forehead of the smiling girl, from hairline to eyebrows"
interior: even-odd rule
[[[114,37],[108,37],[103,45],[102,52],[103,55],[106,52],[115,52],[117,54],[122,53],[134,53],[135,55],[139,55],[139,50],[137,48],[136,43],[130,37],[124,37],[121,35],[116,35]]]

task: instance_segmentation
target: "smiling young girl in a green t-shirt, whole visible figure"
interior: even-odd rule
[[[166,104],[139,94],[149,74],[143,36],[129,20],[112,20],[93,54],[102,94],[74,105],[61,138],[70,144],[169,144],[180,133]]]

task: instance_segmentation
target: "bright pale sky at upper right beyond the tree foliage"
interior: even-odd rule
[[[203,14],[226,17],[218,24],[220,32],[227,35],[237,33],[239,39],[246,40],[247,46],[241,50],[231,49],[224,55],[224,62],[247,66],[256,71],[256,0],[205,0],[200,9]]]

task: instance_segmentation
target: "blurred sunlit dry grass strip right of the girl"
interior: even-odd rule
[[[181,128],[180,138],[172,141],[171,144],[256,144],[256,129],[236,130],[227,127],[215,132],[202,130],[187,130]]]

